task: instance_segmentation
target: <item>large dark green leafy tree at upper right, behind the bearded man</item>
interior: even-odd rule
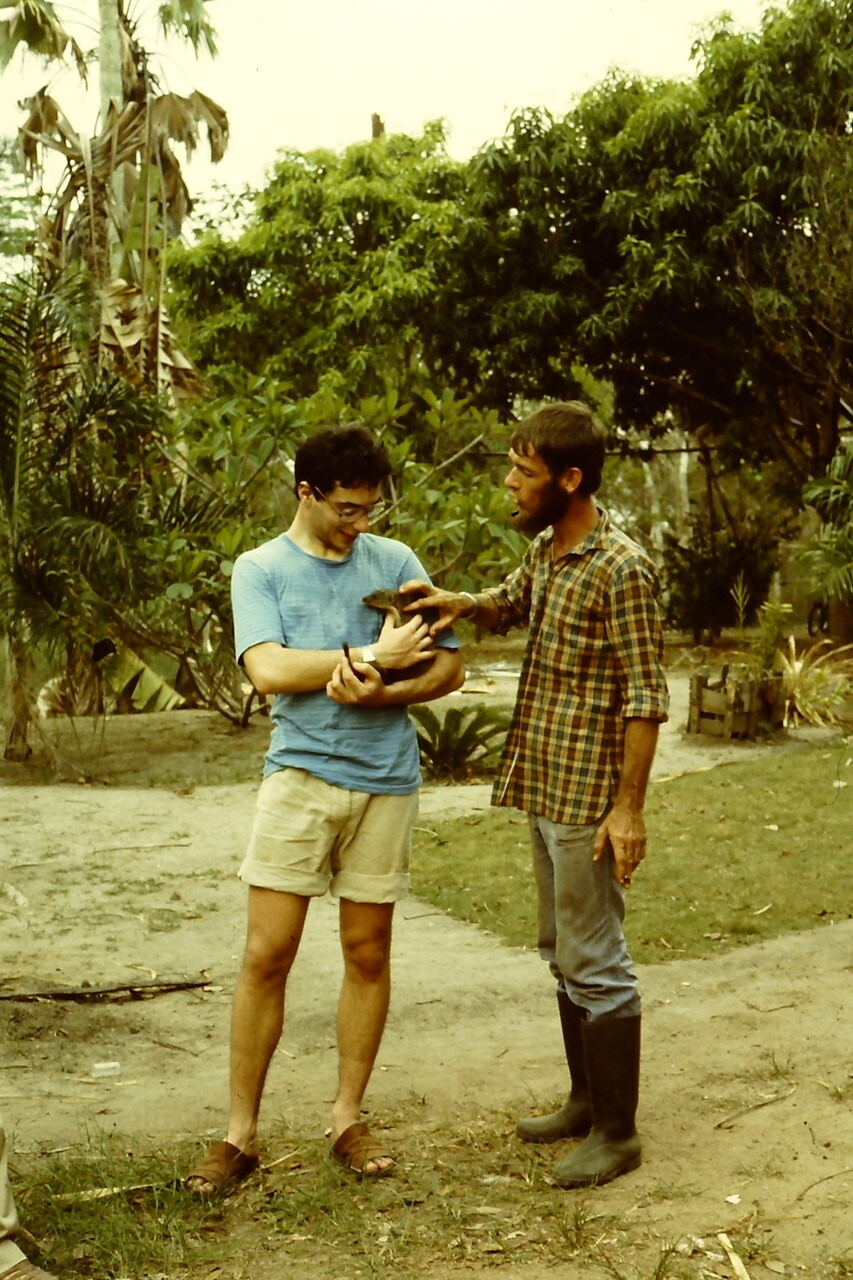
[[[471,316],[475,394],[566,394],[581,361],[612,384],[624,428],[675,421],[800,477],[826,468],[850,329],[821,328],[816,300],[834,291],[833,317],[849,305],[831,192],[849,155],[852,15],[849,0],[794,0],[757,33],[721,19],[692,79],[613,73],[561,120],[519,113],[474,157],[470,238],[446,279]],[[812,268],[804,289],[816,236],[838,275]]]

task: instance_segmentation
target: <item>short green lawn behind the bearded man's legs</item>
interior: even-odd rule
[[[849,918],[839,858],[853,794],[835,786],[836,765],[838,750],[802,748],[653,785],[649,852],[628,893],[634,959],[717,955]],[[412,868],[420,897],[512,946],[535,943],[524,814],[432,820]]]

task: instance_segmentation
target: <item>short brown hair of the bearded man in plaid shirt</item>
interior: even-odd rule
[[[551,475],[558,479],[578,467],[578,493],[596,493],[601,486],[607,433],[590,408],[580,401],[544,404],[519,422],[510,447],[516,453],[535,451]]]

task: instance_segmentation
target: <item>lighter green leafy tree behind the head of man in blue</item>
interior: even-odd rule
[[[207,229],[175,246],[175,315],[193,357],[219,385],[243,371],[275,378],[293,399],[323,385],[352,398],[407,399],[452,379],[434,330],[444,246],[464,205],[462,166],[441,124],[341,154],[279,152],[243,230]]]

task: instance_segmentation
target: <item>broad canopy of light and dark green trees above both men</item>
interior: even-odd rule
[[[173,280],[213,376],[411,385],[506,412],[580,362],[620,426],[820,475],[852,378],[850,0],[715,23],[685,82],[612,74],[464,166],[441,131],[282,155]]]

